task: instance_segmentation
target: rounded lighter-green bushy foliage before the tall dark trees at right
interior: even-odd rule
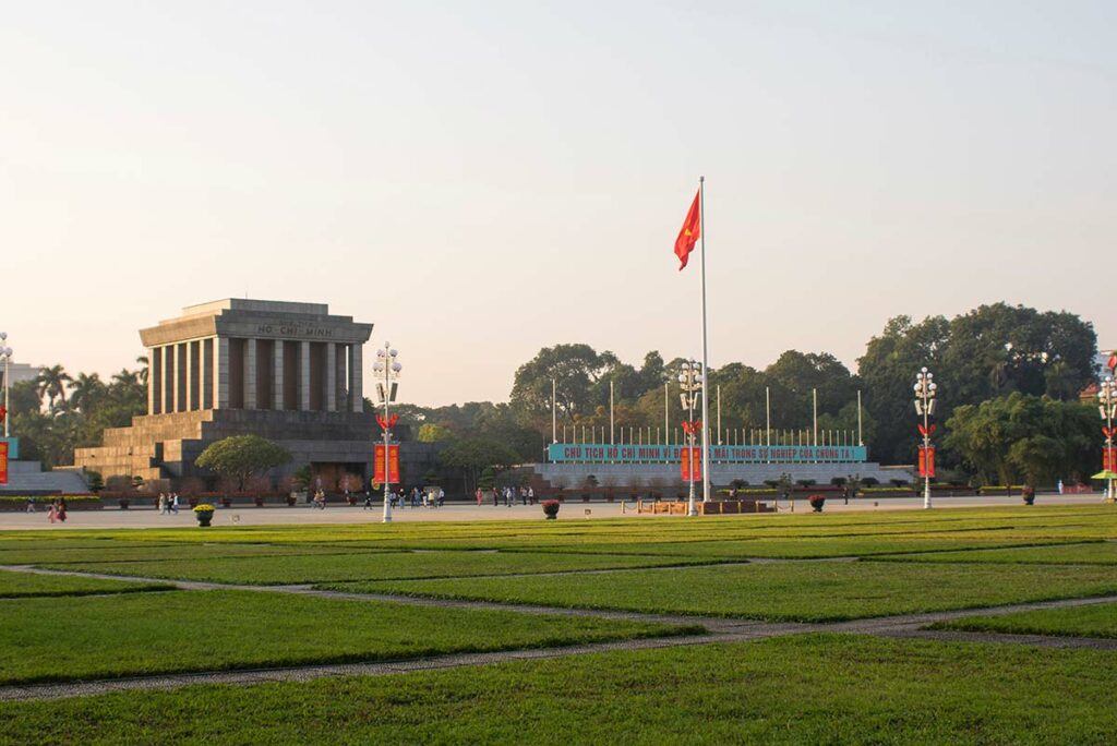
[[[946,428],[944,444],[986,485],[1083,479],[1100,459],[1097,413],[1078,401],[1018,391],[958,407]]]

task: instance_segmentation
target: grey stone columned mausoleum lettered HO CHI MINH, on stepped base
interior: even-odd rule
[[[75,451],[104,478],[208,477],[193,463],[210,443],[239,434],[274,440],[294,456],[285,471],[372,474],[380,434],[364,412],[363,345],[372,324],[325,304],[230,298],[189,306],[142,329],[147,414]]]

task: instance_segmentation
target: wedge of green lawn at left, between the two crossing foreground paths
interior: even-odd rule
[[[0,603],[8,641],[0,683],[421,658],[681,630],[696,628],[257,591],[23,599]]]

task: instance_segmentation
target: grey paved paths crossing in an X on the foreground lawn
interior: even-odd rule
[[[930,612],[920,614],[898,614],[859,619],[838,623],[799,623],[799,622],[763,622],[744,619],[725,619],[716,616],[645,614],[639,612],[608,611],[593,609],[561,609],[527,604],[503,604],[485,601],[465,601],[450,599],[419,599],[390,594],[345,593],[342,591],[322,591],[309,585],[238,585],[226,583],[201,583],[194,581],[166,581],[164,578],[122,577],[118,575],[94,575],[71,571],[54,571],[29,565],[0,566],[2,571],[35,573],[44,575],[80,575],[105,577],[117,581],[160,582],[169,583],[181,590],[229,589],[270,593],[295,593],[327,599],[346,599],[359,601],[386,601],[392,603],[420,606],[440,606],[450,609],[498,609],[527,614],[555,614],[563,616],[594,616],[599,619],[637,620],[666,624],[700,624],[707,634],[687,637],[667,637],[641,640],[622,640],[614,642],[567,645],[562,648],[506,650],[488,653],[462,653],[437,656],[420,660],[390,661],[376,663],[341,663],[328,666],[299,666],[278,669],[241,670],[241,671],[202,671],[194,673],[178,673],[169,676],[147,676],[128,679],[109,679],[97,681],[78,681],[67,683],[45,683],[0,687],[0,701],[61,699],[106,694],[122,690],[166,690],[194,685],[248,685],[266,681],[308,681],[328,676],[385,676],[405,673],[409,671],[458,668],[462,666],[484,666],[513,660],[537,660],[561,658],[591,652],[610,650],[648,650],[678,645],[710,644],[716,642],[742,642],[763,640],[789,634],[808,632],[842,632],[853,634],[871,634],[889,638],[920,638],[935,640],[960,640],[968,642],[1029,644],[1051,648],[1092,648],[1117,650],[1117,640],[1092,638],[1065,638],[1032,634],[1000,634],[976,632],[953,632],[926,630],[934,622],[958,619],[962,616],[1009,614],[1019,611],[1039,609],[1060,609],[1082,606],[1098,603],[1117,602],[1117,595],[1096,596],[1090,599],[1065,599],[1058,601],[1041,601],[1005,606],[984,609],[963,609],[956,611]]]

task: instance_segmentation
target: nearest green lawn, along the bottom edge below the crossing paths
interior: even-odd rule
[[[56,743],[1111,744],[1111,653],[806,635],[0,705]]]

